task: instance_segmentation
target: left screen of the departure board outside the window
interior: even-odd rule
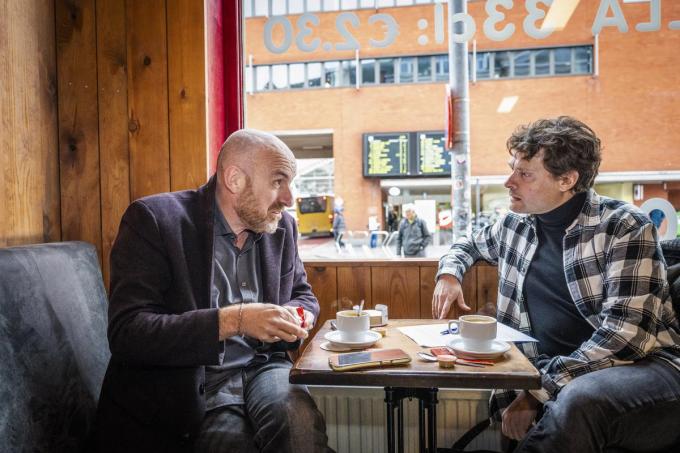
[[[364,176],[409,175],[409,134],[365,134]]]

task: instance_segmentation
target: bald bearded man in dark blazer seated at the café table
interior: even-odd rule
[[[287,351],[319,313],[285,212],[295,171],[281,140],[241,130],[206,185],[127,209],[99,451],[329,451],[307,389],[288,382]]]

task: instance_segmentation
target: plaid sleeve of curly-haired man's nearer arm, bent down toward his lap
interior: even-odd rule
[[[606,253],[599,326],[571,355],[541,369],[543,387],[553,395],[577,376],[633,362],[655,347],[668,292],[656,229],[650,222],[619,226]]]

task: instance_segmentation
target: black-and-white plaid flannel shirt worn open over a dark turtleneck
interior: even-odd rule
[[[499,322],[532,334],[524,300],[524,279],[538,246],[532,215],[509,213],[493,225],[460,238],[439,263],[441,274],[462,281],[475,261],[498,266]],[[579,313],[595,329],[569,356],[539,356],[536,343],[518,344],[541,372],[551,398],[577,376],[625,365],[647,355],[680,370],[680,325],[668,296],[666,264],[657,231],[636,207],[590,190],[563,239],[564,273]],[[492,418],[515,398],[497,390]]]

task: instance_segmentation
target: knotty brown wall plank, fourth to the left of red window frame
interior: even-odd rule
[[[62,239],[94,244],[101,259],[95,2],[55,4]]]

